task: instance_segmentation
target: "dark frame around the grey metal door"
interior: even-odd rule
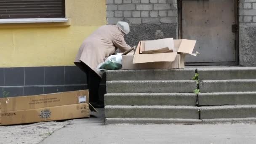
[[[235,32],[235,61],[231,62],[201,62],[201,63],[185,63],[185,65],[239,65],[239,21],[238,21],[238,8],[239,8],[239,0],[234,0],[235,4],[235,24],[236,24],[236,32]],[[182,39],[182,0],[177,0],[178,7],[178,37]]]

